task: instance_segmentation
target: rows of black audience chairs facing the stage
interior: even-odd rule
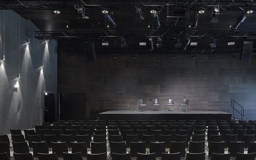
[[[67,125],[60,125],[64,123]],[[256,142],[255,127],[250,124],[251,121],[222,120],[69,120],[37,125],[36,131],[11,130],[10,140],[8,135],[0,135],[0,154],[3,159],[7,154],[17,160],[31,156],[55,160],[55,155],[57,159],[66,156],[65,160],[80,160],[80,157],[130,160],[138,155],[137,159],[147,160],[152,157],[200,160],[202,155],[211,160],[251,159],[255,158]]]

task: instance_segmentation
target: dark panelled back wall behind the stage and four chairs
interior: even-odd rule
[[[178,109],[189,99],[192,110],[231,112],[235,99],[244,106],[245,119],[256,119],[256,56],[241,62],[238,55],[98,55],[87,62],[83,55],[58,53],[58,89],[86,93],[87,110],[101,99],[106,109],[137,109],[137,99],[148,108],[151,99],[162,108],[174,99]]]

